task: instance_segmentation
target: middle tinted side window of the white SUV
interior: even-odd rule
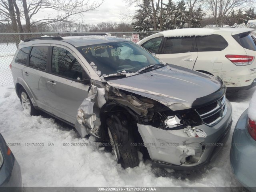
[[[164,45],[164,54],[195,52],[194,37],[167,38]]]

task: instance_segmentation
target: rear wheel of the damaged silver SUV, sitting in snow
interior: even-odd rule
[[[32,104],[29,96],[28,96],[28,93],[25,91],[25,89],[22,87],[20,88],[19,90],[19,98],[20,98],[20,103],[21,103],[21,106],[24,110],[24,112],[26,112],[27,114],[30,114],[30,115],[38,115],[39,112],[38,110],[36,110],[36,108],[34,108],[34,105]]]

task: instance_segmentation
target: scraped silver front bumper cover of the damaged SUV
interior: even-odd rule
[[[226,128],[232,120],[232,106],[230,102],[226,102],[228,112],[222,118],[220,123],[215,126],[207,126],[206,124],[197,126],[204,130],[207,134],[206,138],[189,137],[183,129],[181,130],[162,130],[152,126],[138,125],[139,133],[144,141],[144,145],[148,149],[150,158],[173,165],[180,166],[197,166],[204,163],[214,150],[214,144],[218,144],[220,136],[225,132]],[[202,143],[206,148],[202,150]],[[210,146],[212,144],[212,146]],[[188,150],[188,152],[186,151]],[[198,154],[196,162],[190,164],[182,164],[180,161],[186,154],[195,152]]]

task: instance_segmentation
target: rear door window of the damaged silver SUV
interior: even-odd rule
[[[29,66],[46,70],[48,56],[48,46],[35,46],[32,47],[29,56]]]

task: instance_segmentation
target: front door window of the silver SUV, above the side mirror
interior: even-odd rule
[[[83,68],[68,50],[53,47],[52,73],[71,79],[82,80]]]

